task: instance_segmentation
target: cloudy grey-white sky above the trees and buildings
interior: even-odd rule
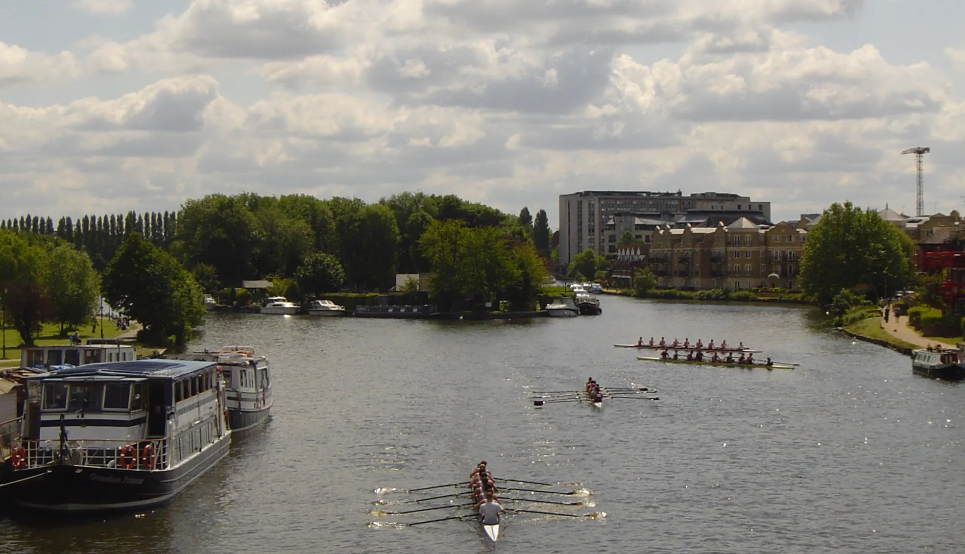
[[[0,0],[0,217],[593,189],[965,209],[960,0]]]

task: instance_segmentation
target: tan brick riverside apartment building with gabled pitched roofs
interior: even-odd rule
[[[712,228],[665,225],[651,237],[649,265],[660,287],[796,291],[806,237],[803,225],[785,221],[773,226],[747,218]]]

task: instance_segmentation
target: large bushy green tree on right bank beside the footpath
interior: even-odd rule
[[[808,233],[801,260],[802,289],[827,305],[841,289],[864,285],[877,297],[907,288],[911,239],[873,209],[832,204]]]

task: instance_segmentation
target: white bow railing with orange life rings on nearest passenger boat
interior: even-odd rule
[[[14,469],[48,465],[78,465],[112,469],[159,470],[170,466],[169,441],[156,440],[49,440],[16,441],[23,449]]]

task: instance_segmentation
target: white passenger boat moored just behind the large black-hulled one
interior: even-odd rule
[[[251,429],[270,415],[271,371],[268,359],[255,356],[252,346],[223,346],[217,350],[165,356],[173,360],[215,362],[224,375],[228,422],[233,431]]]

